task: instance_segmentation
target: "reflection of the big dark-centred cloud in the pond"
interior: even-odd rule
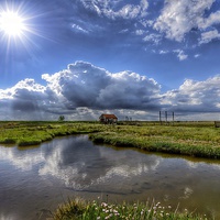
[[[119,154],[109,147],[94,146],[87,139],[78,136],[63,140],[62,145],[58,143],[46,156],[46,163],[38,169],[38,174],[53,175],[75,190],[95,190],[99,185],[108,185],[110,190],[110,185],[118,184],[119,179],[155,170],[162,160],[143,161],[144,156],[140,157],[139,154],[139,158],[131,157],[128,151]]]

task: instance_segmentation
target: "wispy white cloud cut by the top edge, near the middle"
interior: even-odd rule
[[[148,8],[146,0],[141,0],[138,4],[127,4],[121,0],[81,0],[81,3],[86,9],[110,19],[135,19],[144,16]]]

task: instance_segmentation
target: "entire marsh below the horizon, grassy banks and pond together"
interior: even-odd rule
[[[219,134],[213,122],[1,122],[0,217],[23,219],[30,200],[32,219],[218,219]]]

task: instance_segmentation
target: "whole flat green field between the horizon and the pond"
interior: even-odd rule
[[[220,158],[220,129],[211,121],[174,122],[0,122],[0,143],[37,145],[55,136],[88,133],[98,143],[196,157]]]

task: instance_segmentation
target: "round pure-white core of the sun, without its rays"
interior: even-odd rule
[[[24,19],[13,11],[0,13],[0,31],[8,36],[20,36],[26,30]]]

